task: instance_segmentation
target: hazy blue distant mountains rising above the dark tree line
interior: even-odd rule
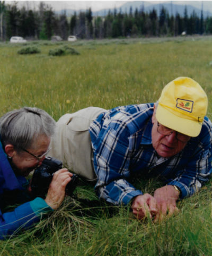
[[[159,15],[162,6],[164,6],[164,8],[169,12],[170,15],[173,14],[175,16],[176,13],[179,13],[181,16],[184,16],[185,6],[187,6],[188,16],[190,16],[193,13],[193,11],[195,11],[196,14],[200,17],[202,1],[184,1],[184,3],[185,3],[184,5],[174,4],[174,2],[175,1],[170,1],[170,2],[166,1],[166,2],[163,2],[160,4],[153,4],[153,2],[148,2],[148,1],[130,1],[126,4],[123,4],[121,7],[117,8],[117,12],[121,11],[122,13],[129,13],[130,7],[132,7],[133,12],[136,10],[136,8],[138,10],[141,10],[143,8],[145,12],[152,11],[154,8],[157,12],[157,15]],[[183,3],[183,1],[179,1],[179,2]],[[197,3],[197,2],[199,2],[199,3]],[[207,2],[207,3],[205,3],[205,5],[210,4],[212,6],[212,1],[203,1],[203,2]],[[188,3],[189,3],[189,5],[188,5]],[[199,8],[195,7],[194,5],[195,6],[199,5]],[[206,8],[207,7],[203,8],[204,18],[206,18],[207,16],[212,16],[212,13],[210,11],[208,11],[208,8],[207,8],[207,11],[205,10]],[[108,14],[109,10],[111,12],[114,12],[114,8],[111,8],[111,9],[103,9],[100,11],[92,12],[92,14],[93,14],[93,16],[106,16]],[[78,14],[80,12],[86,12],[86,10],[81,9],[81,10],[76,11],[76,10],[72,10],[72,9],[66,9],[66,10],[57,11],[56,13],[60,14],[60,13],[64,13],[64,12],[66,12],[67,16],[72,16],[72,15],[74,15],[75,12],[76,12],[76,14]]]

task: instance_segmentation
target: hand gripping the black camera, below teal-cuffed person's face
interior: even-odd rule
[[[54,174],[45,199],[48,206],[52,209],[56,210],[63,202],[66,185],[72,179],[72,176],[73,174],[68,172],[67,169],[57,170]]]

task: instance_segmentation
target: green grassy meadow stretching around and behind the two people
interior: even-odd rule
[[[0,44],[0,115],[36,106],[57,121],[84,107],[112,108],[154,102],[178,76],[190,76],[205,89],[212,118],[212,37],[77,41],[60,45],[28,43],[41,53],[19,55],[21,45]],[[80,55],[49,56],[62,45]],[[136,180],[153,193],[157,180]],[[129,208],[95,200],[91,184],[81,182],[76,199],[30,231],[0,241],[0,255],[211,255],[211,182],[200,193],[178,202],[180,213],[161,223],[137,221]]]

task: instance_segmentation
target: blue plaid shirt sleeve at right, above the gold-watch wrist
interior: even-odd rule
[[[211,123],[208,121],[204,125],[196,147],[191,147],[193,152],[188,165],[178,172],[176,177],[170,181],[169,185],[176,185],[181,190],[181,198],[189,197],[198,192],[202,185],[209,180],[212,172],[212,148],[211,148]],[[189,153],[188,153],[189,155]]]

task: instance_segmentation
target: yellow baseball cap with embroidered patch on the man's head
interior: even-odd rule
[[[163,88],[156,119],[172,130],[196,137],[201,131],[207,107],[208,98],[199,83],[180,77]]]

